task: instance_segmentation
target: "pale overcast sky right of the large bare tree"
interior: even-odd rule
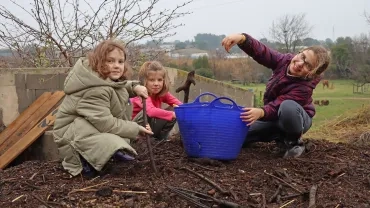
[[[10,1],[2,0],[0,5],[27,21],[25,12]],[[184,1],[159,0],[158,7],[173,8]],[[17,1],[25,7],[30,2],[32,0]],[[98,5],[101,0],[88,2]],[[174,22],[185,26],[173,30],[176,35],[166,41],[193,40],[197,33],[228,35],[241,32],[258,39],[269,39],[269,28],[274,20],[282,15],[301,13],[306,14],[306,20],[313,26],[310,37],[315,39],[335,40],[340,36],[354,37],[370,32],[370,25],[364,17],[364,11],[370,14],[370,0],[193,0],[182,11],[192,13]]]

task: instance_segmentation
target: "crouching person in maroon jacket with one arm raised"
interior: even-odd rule
[[[329,51],[311,46],[298,54],[283,54],[245,33],[222,40],[227,52],[234,45],[273,72],[266,85],[264,106],[245,108],[241,113],[241,119],[250,126],[245,146],[275,141],[284,150],[284,157],[299,157],[305,151],[301,137],[315,115],[312,92],[329,66]]]

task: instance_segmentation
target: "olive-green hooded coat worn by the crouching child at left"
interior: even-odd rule
[[[130,139],[139,133],[131,121],[129,97],[136,81],[104,80],[81,58],[64,82],[66,94],[54,123],[54,140],[62,165],[71,175],[82,171],[79,154],[100,171],[113,154],[125,149],[137,154]]]

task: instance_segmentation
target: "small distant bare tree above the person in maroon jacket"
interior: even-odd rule
[[[272,23],[270,34],[275,41],[284,44],[286,52],[295,52],[296,46],[311,30],[305,14],[286,14]]]

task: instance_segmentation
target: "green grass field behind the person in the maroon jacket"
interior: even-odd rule
[[[353,116],[354,114],[359,113],[358,110],[370,106],[370,92],[368,92],[368,94],[354,94],[352,80],[330,80],[329,82],[330,85],[333,83],[332,89],[323,89],[322,84],[320,83],[313,93],[314,100],[329,100],[329,105],[316,106],[316,115],[313,119],[313,125],[311,130],[307,133],[307,136],[311,138],[325,137],[325,134],[322,134],[322,132],[327,131],[325,128],[331,128],[329,125],[331,122],[335,122],[337,119],[344,119]],[[262,91],[263,94],[265,90],[264,84],[238,86],[246,89],[253,89],[257,97],[259,97],[260,91]],[[349,126],[346,126],[345,128],[348,129]],[[359,130],[360,129],[361,128],[359,128]],[[340,131],[340,127],[336,126],[331,130]],[[338,139],[338,135],[328,137],[330,138],[323,139]]]

